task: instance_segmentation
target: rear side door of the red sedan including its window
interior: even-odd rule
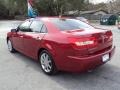
[[[38,20],[34,20],[30,26],[32,32],[24,33],[24,49],[26,55],[36,59],[39,46],[44,35],[47,33],[45,25]]]

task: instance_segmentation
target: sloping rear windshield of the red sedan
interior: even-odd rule
[[[61,31],[93,28],[91,25],[76,19],[52,19],[51,22]]]

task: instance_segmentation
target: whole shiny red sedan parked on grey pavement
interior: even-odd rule
[[[7,34],[10,52],[38,60],[46,74],[83,72],[108,62],[114,54],[112,32],[69,18],[32,18]]]

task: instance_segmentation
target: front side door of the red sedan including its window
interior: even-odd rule
[[[12,40],[13,40],[13,45],[15,49],[18,51],[24,52],[24,46],[23,46],[23,35],[25,32],[27,32],[27,28],[30,26],[31,22],[30,21],[25,21],[23,22],[18,28],[18,32],[14,33]]]

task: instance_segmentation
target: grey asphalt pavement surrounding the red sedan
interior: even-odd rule
[[[116,26],[93,24],[113,32],[116,52],[107,64],[92,72],[47,76],[37,62],[8,51],[6,33],[20,23],[0,21],[0,90],[120,90],[120,30]]]

